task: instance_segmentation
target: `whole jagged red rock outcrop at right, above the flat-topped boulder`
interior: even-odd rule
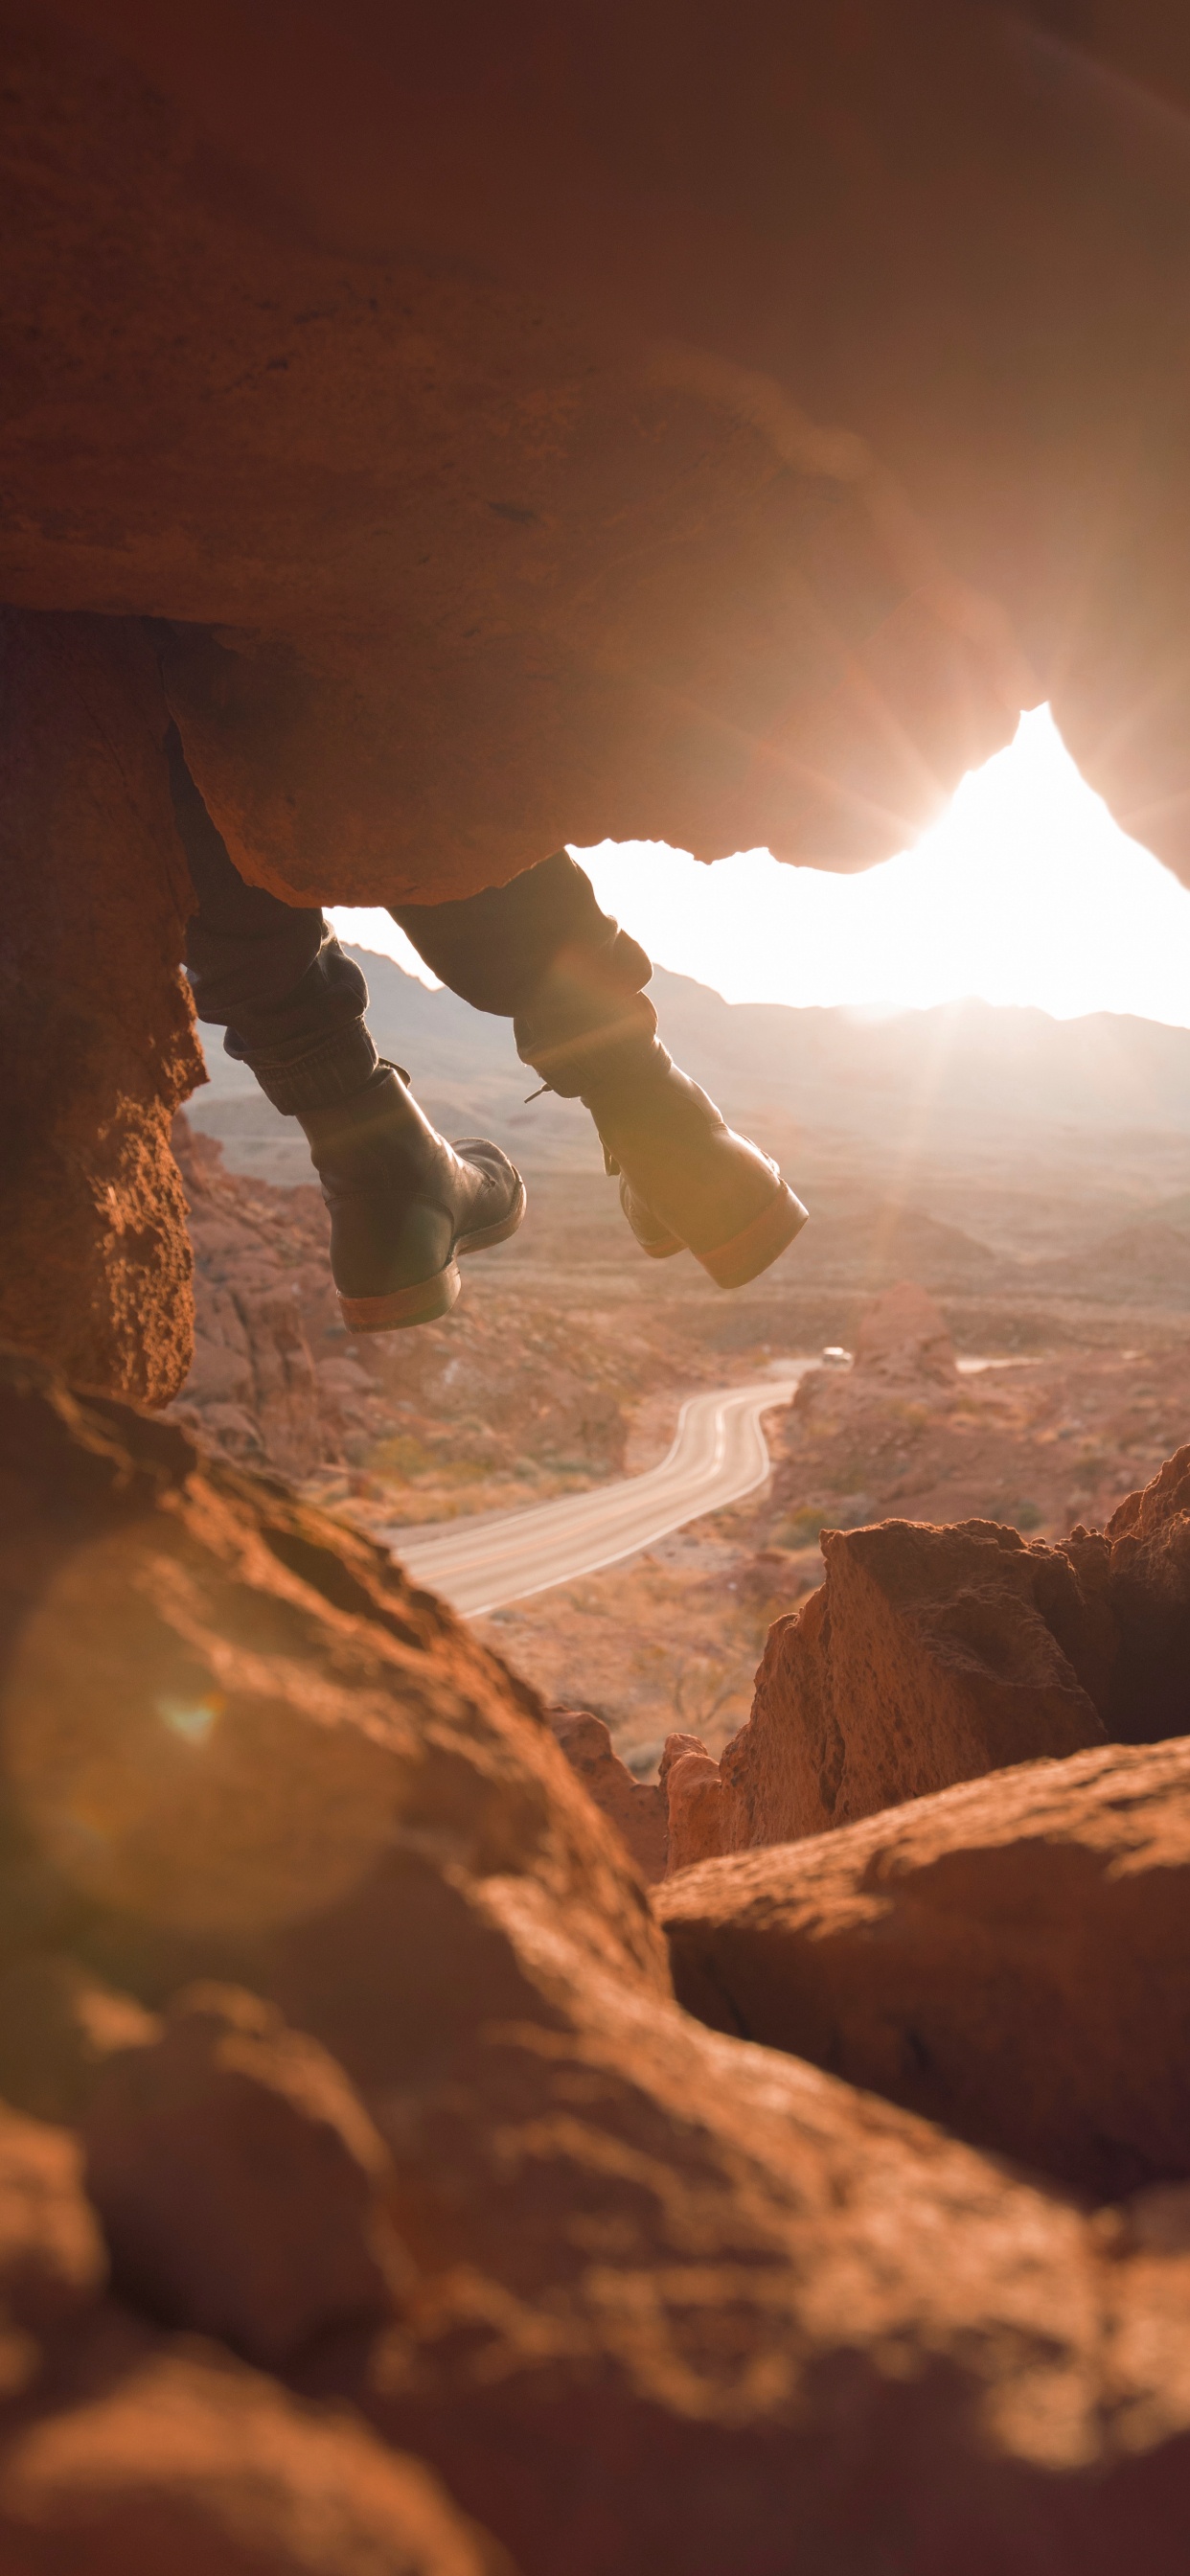
[[[984,1520],[886,1520],[824,1530],[822,1556],[822,1589],[770,1628],[721,1788],[703,1775],[690,1860],[1190,1726],[1190,1450],[1108,1533],[1061,1548]]]

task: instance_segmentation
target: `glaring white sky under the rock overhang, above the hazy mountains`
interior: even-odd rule
[[[914,1010],[979,994],[1190,1028],[1190,894],[1118,829],[1046,706],[963,778],[943,822],[863,876],[783,868],[768,850],[701,868],[665,842],[577,858],[659,966],[729,1002]],[[332,920],[433,984],[386,912]]]

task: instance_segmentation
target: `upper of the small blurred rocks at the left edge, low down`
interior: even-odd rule
[[[157,2017],[64,1953],[33,1953],[0,1976],[0,2094],[36,2120],[82,2117],[116,2050],[144,2048]]]

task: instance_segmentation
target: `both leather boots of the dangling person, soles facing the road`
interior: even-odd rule
[[[520,1054],[551,1090],[587,1105],[652,1260],[690,1249],[719,1288],[742,1288],[806,1224],[775,1162],[726,1126],[647,1030],[580,1030],[562,1048],[543,1041]],[[458,1257],[502,1244],[525,1213],[525,1182],[507,1154],[477,1136],[446,1144],[397,1064],[379,1064],[353,1100],[299,1115],[330,1208],[348,1332],[399,1332],[448,1314]]]

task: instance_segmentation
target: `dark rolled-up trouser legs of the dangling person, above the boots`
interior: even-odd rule
[[[178,832],[198,899],[185,971],[201,1020],[224,1028],[224,1048],[247,1064],[278,1110],[332,1108],[376,1072],[366,1025],[368,984],[322,912],[281,904],[245,886],[185,768],[180,734],[167,739]],[[582,1087],[580,1059],[595,1043],[652,1038],[652,976],[567,850],[456,904],[392,907],[433,974],[471,1002],[513,1020],[518,1051],[554,1090]]]

